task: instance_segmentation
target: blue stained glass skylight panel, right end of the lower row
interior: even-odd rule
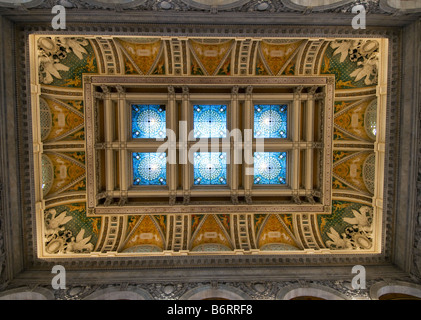
[[[254,153],[254,184],[286,184],[286,172],[286,152]]]

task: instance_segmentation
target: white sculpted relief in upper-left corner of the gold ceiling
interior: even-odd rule
[[[59,71],[69,71],[69,67],[60,63],[69,53],[74,53],[80,60],[87,54],[84,46],[89,42],[78,38],[40,38],[38,40],[38,60],[40,82],[50,84],[54,78],[61,79]]]

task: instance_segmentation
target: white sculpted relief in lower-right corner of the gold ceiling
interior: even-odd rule
[[[345,228],[342,234],[339,234],[332,227],[327,236],[330,240],[326,245],[333,250],[366,250],[372,246],[372,221],[373,209],[370,207],[361,207],[359,211],[352,210],[353,218],[344,218],[343,220],[350,225]]]

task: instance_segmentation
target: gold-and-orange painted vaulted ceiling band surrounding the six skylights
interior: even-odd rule
[[[381,251],[386,103],[386,75],[382,74],[382,65],[386,63],[387,40],[31,35],[30,44],[31,69],[35,71],[31,84],[37,88],[31,101],[40,257]],[[106,101],[105,96],[116,97],[118,101],[127,95],[124,84],[139,79],[150,83],[165,77],[179,79],[180,91],[177,84],[165,85],[168,91],[161,103],[166,104],[171,97],[176,101],[194,96],[194,91],[182,89],[186,85],[183,79],[196,84],[209,79],[220,83],[244,79],[244,83],[253,84],[259,83],[259,78],[273,81],[285,78],[297,82],[291,97],[300,95],[305,103],[311,97],[324,101],[326,96],[312,92],[311,87],[299,89],[298,81],[332,76],[335,79],[329,120],[332,147],[327,153],[329,158],[323,158],[324,153],[320,153],[318,160],[319,166],[331,164],[331,185],[326,189],[330,202],[321,212],[310,210],[317,206],[320,195],[317,190],[310,194],[308,188],[286,197],[286,203],[277,204],[301,209],[190,212],[188,208],[195,195],[183,191],[180,197],[177,186],[174,193],[165,194],[168,197],[165,206],[182,208],[184,205],[184,211],[164,208],[142,212],[130,207],[131,200],[127,197],[130,193],[124,197],[122,192],[117,202],[112,197],[96,195],[98,201],[108,205],[106,213],[98,214],[90,209],[87,194],[88,177],[92,173],[87,148],[91,133],[86,127],[90,102],[86,88],[97,78],[108,82],[100,83],[92,93],[95,101]],[[231,99],[249,94],[247,87],[230,90]],[[150,93],[143,92],[146,96]],[[167,106],[166,112],[170,117],[173,111]],[[326,116],[321,113],[320,117],[326,121]],[[99,126],[103,121],[99,119],[110,121],[103,114],[94,119],[99,121],[96,124]],[[289,137],[287,133],[284,139]],[[94,147],[106,150],[107,143]],[[122,143],[115,145],[120,148]],[[300,144],[302,140],[292,141],[291,148]],[[311,145],[301,153],[306,154],[312,148],[319,150],[325,142],[314,141]],[[97,157],[94,167],[101,168],[104,159]],[[167,166],[168,188],[174,174],[171,168]],[[106,179],[107,170],[110,168],[99,172],[98,177]],[[303,170],[307,170],[304,172],[308,177],[309,172],[317,175],[312,171],[316,169],[309,166]],[[320,178],[314,181],[317,179]],[[253,204],[256,195],[241,192],[240,189],[229,191],[230,208],[240,208],[243,201]],[[113,214],[113,208],[124,208],[126,212],[116,214],[116,209]]]

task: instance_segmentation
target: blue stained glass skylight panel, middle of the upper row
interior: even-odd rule
[[[225,138],[227,131],[227,106],[193,106],[193,133],[195,138]]]

